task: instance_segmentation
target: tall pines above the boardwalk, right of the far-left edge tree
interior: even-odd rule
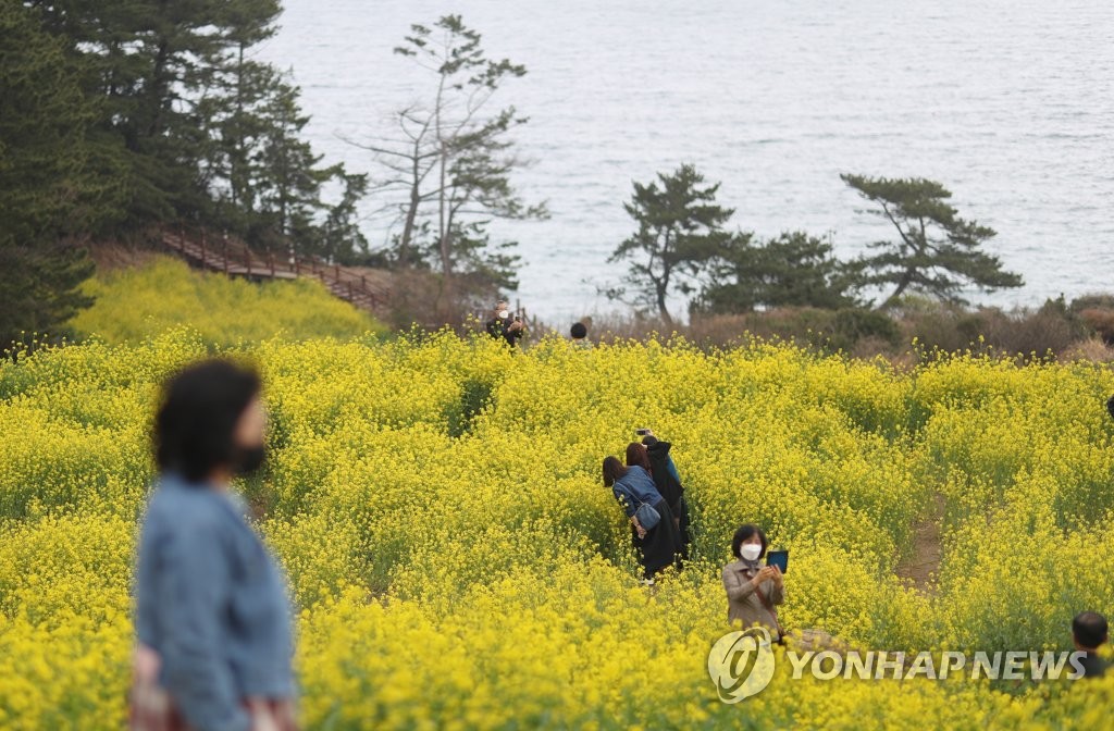
[[[120,230],[182,216],[313,250],[322,184],[342,170],[319,167],[297,89],[253,59],[277,0],[14,6],[63,49],[96,111],[87,123],[113,143],[129,194]]]

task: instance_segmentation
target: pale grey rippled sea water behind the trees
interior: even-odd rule
[[[925,176],[998,231],[993,251],[1039,304],[1114,291],[1114,3],[1108,0],[285,0],[263,58],[291,68],[329,160],[390,130],[429,90],[391,49],[458,12],[529,74],[501,98],[530,117],[522,193],[553,217],[521,242],[524,303],[548,318],[610,305],[597,285],[633,228],[631,182],[692,162],[734,224],[831,232],[850,256],[888,235],[841,172]],[[497,97],[498,99],[498,97]],[[369,203],[369,209],[374,202]],[[381,243],[385,232],[369,225]]]

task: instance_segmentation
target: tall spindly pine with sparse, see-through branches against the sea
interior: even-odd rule
[[[383,173],[380,193],[398,193],[388,213],[402,228],[394,260],[413,265],[429,256],[443,280],[461,279],[482,287],[514,283],[514,242],[494,243],[494,218],[545,218],[544,204],[527,204],[511,182],[525,165],[514,154],[510,133],[527,119],[514,107],[489,111],[501,86],[526,75],[526,67],[487,57],[481,36],[460,16],[432,27],[413,25],[397,53],[414,59],[432,76],[428,100],[398,113],[399,136],[360,147],[375,154]],[[427,236],[426,241],[420,241]]]

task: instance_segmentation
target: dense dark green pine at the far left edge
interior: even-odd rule
[[[0,4],[0,348],[91,303],[79,285],[92,263],[78,244],[127,193],[79,67],[39,23],[33,10]]]

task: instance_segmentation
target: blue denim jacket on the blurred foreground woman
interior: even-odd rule
[[[135,592],[138,640],[190,725],[246,731],[243,699],[294,694],[285,581],[231,494],[158,480]]]

